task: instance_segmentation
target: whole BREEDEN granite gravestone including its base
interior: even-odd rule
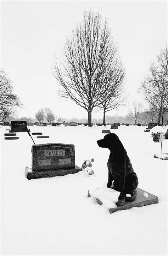
[[[63,176],[80,171],[75,165],[75,148],[72,144],[46,143],[32,146],[32,169],[28,179]]]

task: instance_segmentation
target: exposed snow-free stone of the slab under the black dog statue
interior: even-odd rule
[[[158,203],[158,197],[150,194],[149,192],[146,192],[145,190],[139,189],[138,187],[136,188],[137,190],[137,195],[136,198],[133,202],[125,202],[125,205],[123,206],[118,206],[116,208],[110,208],[109,211],[110,213],[114,213],[116,211],[122,211],[122,210],[127,210],[132,207],[142,207],[146,205],[152,205],[153,203]],[[90,191],[90,190],[89,190]],[[90,193],[88,191],[88,197],[90,197]],[[148,197],[146,198],[143,194],[147,193]],[[99,205],[102,205],[103,202],[101,202],[99,199],[97,199],[97,203]]]

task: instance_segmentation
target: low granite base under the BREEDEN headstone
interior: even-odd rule
[[[74,169],[62,169],[62,170],[47,170],[47,171],[32,171],[32,168],[28,169],[27,179],[41,179],[41,178],[52,178],[55,176],[64,176],[67,174],[78,173],[82,169],[75,165]]]

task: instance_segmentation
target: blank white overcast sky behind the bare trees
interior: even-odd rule
[[[58,99],[51,75],[53,54],[60,55],[85,9],[108,17],[127,70],[129,106],[107,115],[125,115],[132,102],[144,102],[136,90],[167,43],[167,1],[1,1],[1,68],[24,104],[18,116],[34,117],[39,108],[49,107],[57,116],[87,117],[74,102]],[[102,112],[92,116],[102,118]]]

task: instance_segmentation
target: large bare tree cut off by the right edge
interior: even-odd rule
[[[157,55],[156,63],[152,62],[148,75],[141,83],[139,92],[158,114],[157,124],[161,115],[168,107],[168,51],[167,46]]]

